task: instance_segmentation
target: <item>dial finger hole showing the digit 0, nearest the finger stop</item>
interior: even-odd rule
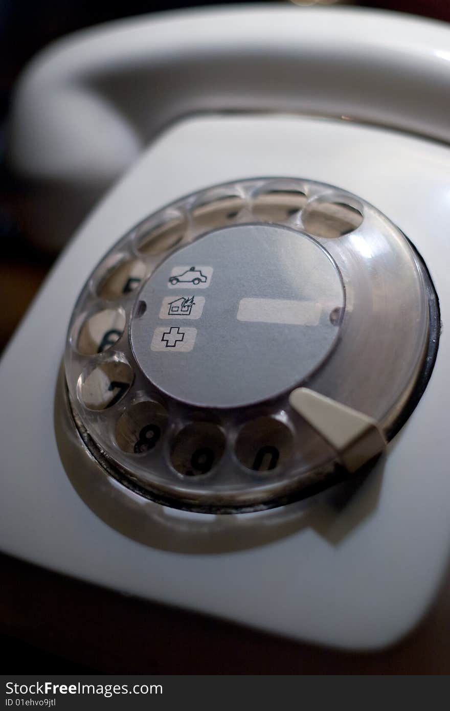
[[[235,453],[242,466],[252,471],[272,471],[291,458],[294,437],[284,422],[257,417],[242,427]]]

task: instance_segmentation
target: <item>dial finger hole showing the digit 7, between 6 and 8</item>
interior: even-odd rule
[[[127,394],[133,378],[125,360],[107,360],[80,375],[78,397],[88,410],[107,410]]]

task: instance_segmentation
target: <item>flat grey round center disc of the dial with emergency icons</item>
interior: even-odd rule
[[[315,240],[279,225],[210,232],[144,284],[131,324],[139,367],[199,407],[275,397],[318,367],[338,334],[344,292]]]

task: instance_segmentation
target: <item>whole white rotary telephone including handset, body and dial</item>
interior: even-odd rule
[[[195,11],[48,51],[18,88],[11,159],[71,201],[60,234],[78,186],[87,204],[141,157],[1,365],[7,550],[297,638],[392,642],[449,547],[449,31]]]

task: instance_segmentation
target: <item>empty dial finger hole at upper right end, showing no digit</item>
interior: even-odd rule
[[[301,219],[311,235],[335,239],[356,230],[363,222],[363,213],[346,203],[314,201],[306,205]]]

